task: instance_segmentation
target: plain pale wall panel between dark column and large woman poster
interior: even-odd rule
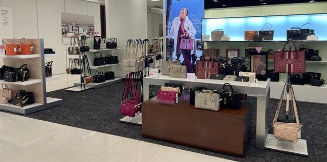
[[[106,0],[107,37],[118,39],[114,55],[122,63],[125,58],[127,39],[148,38],[147,0]],[[116,77],[125,77],[122,66],[115,66]]]

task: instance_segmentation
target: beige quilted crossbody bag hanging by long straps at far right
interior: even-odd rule
[[[279,113],[282,111],[282,107],[284,105],[284,99],[287,99],[288,93],[285,93],[287,91],[286,87],[289,86],[289,94],[290,94],[290,100],[292,100],[292,107],[293,107],[293,119],[295,118],[296,122],[286,122],[283,119],[279,119]],[[286,95],[284,95],[286,94]],[[286,104],[286,115],[288,115],[288,103]],[[291,84],[286,83],[281,95],[281,99],[279,99],[276,114],[272,123],[273,129],[274,129],[274,137],[279,140],[285,140],[290,142],[297,142],[299,138],[301,138],[301,126],[300,123],[298,111],[297,111],[297,105],[296,100],[294,97],[294,91]]]

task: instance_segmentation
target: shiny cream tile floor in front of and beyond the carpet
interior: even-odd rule
[[[47,91],[76,81],[77,76],[63,74],[47,82]],[[0,161],[230,160],[0,112]]]

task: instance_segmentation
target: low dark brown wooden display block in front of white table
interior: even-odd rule
[[[243,157],[251,136],[252,106],[218,112],[195,109],[189,96],[176,106],[150,99],[142,106],[142,135],[147,138]]]

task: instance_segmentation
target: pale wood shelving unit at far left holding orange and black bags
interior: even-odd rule
[[[19,43],[21,39],[3,39],[9,43]],[[46,97],[46,78],[44,71],[44,53],[43,53],[43,39],[24,39],[24,42],[33,44],[32,55],[16,55],[16,56],[0,56],[4,59],[4,65],[10,67],[19,67],[22,64],[27,64],[29,68],[30,78],[25,82],[5,82],[0,80],[0,83],[7,84],[9,89],[12,90],[26,90],[33,92],[35,103],[26,105],[24,107],[0,104],[0,110],[18,113],[30,114],[50,107],[54,107],[63,103],[62,99]],[[40,53],[40,54],[36,54]],[[55,78],[55,76],[53,77]],[[15,95],[15,94],[13,94]]]

